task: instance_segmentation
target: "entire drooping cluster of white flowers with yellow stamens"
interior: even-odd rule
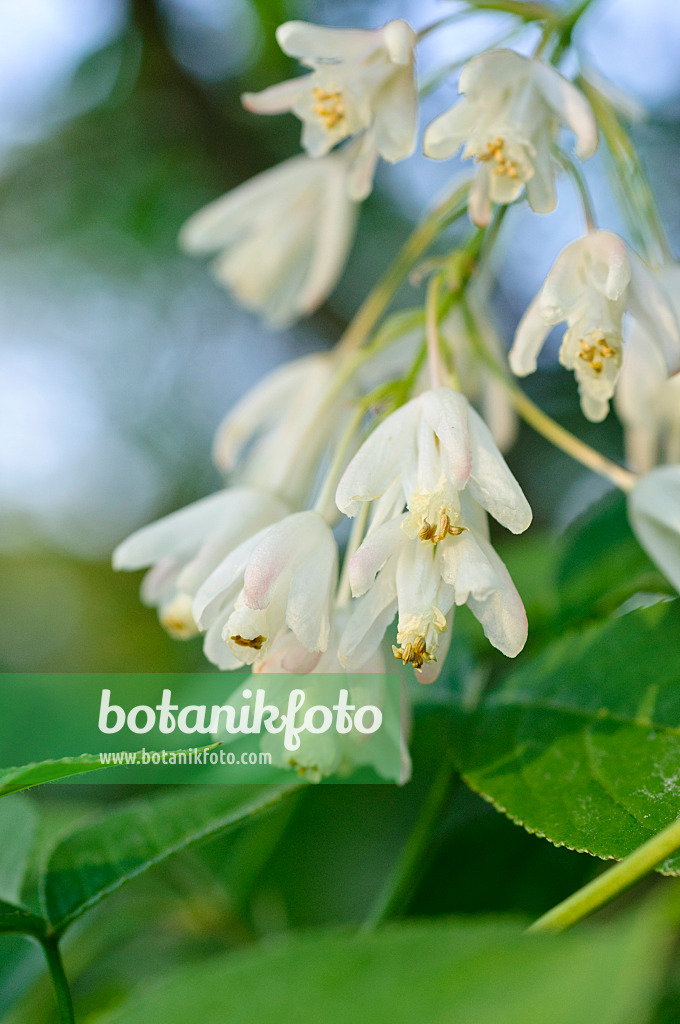
[[[288,325],[313,312],[338,282],[379,158],[394,163],[414,150],[418,37],[395,19],[377,30],[291,22],[277,39],[304,73],[243,101],[256,114],[298,117],[305,153],[199,211],[180,241],[214,257],[216,279],[243,305]],[[579,160],[597,147],[586,96],[545,60],[507,49],[467,62],[459,91],[463,98],[427,128],[424,150],[444,159],[462,148],[474,160],[461,210],[467,202],[480,228],[495,204],[522,196],[549,213],[559,164],[580,180],[559,150],[561,129],[575,136]],[[678,310],[667,295],[675,282],[669,273],[657,280],[621,238],[596,229],[587,198],[584,208],[587,233],[558,256],[522,317],[510,369],[533,373],[551,329],[566,325],[560,361],[575,373],[589,420],[603,420],[614,398],[631,463],[651,470],[631,488],[631,522],[680,587],[680,467],[652,468],[662,453],[680,458],[680,392],[669,376],[680,366]],[[335,677],[384,675],[391,666],[431,682],[462,605],[498,650],[522,650],[526,614],[488,528],[488,516],[514,534],[532,521],[500,452],[516,433],[517,388],[507,384],[488,290],[477,287],[486,267],[477,266],[483,249],[475,240],[494,238],[500,219],[490,232],[473,230],[451,259],[423,265],[437,287],[426,310],[416,310],[417,329],[389,351],[365,358],[354,349],[343,362],[339,346],[295,360],[245,395],[215,438],[224,488],[117,549],[116,567],[150,567],[142,597],[166,629],[178,638],[203,634],[221,670]],[[449,288],[443,298],[437,282]],[[338,512],[353,519],[340,573]],[[295,767],[315,778],[364,764],[356,739],[311,742]],[[398,777],[408,772],[402,736]]]

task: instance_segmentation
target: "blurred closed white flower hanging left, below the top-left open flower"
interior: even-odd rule
[[[180,246],[217,253],[213,271],[248,309],[277,326],[313,312],[342,273],[356,226],[349,155],[293,157],[187,220]]]

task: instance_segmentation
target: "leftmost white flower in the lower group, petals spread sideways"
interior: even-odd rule
[[[158,607],[172,636],[188,639],[199,632],[192,602],[201,584],[230,551],[287,512],[261,490],[219,490],[136,530],[116,548],[114,568],[154,566],[143,579],[142,600]]]

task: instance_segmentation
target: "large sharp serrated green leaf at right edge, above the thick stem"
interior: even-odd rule
[[[680,813],[678,636],[675,601],[553,643],[466,720],[466,781],[557,846],[631,853]]]

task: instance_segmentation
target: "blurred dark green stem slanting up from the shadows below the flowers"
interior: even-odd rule
[[[423,870],[425,856],[434,833],[449,805],[454,777],[454,766],[447,759],[434,776],[432,786],[420,809],[414,829],[399,855],[394,871],[362,926],[363,932],[373,931],[387,918],[402,910],[409,902]]]

